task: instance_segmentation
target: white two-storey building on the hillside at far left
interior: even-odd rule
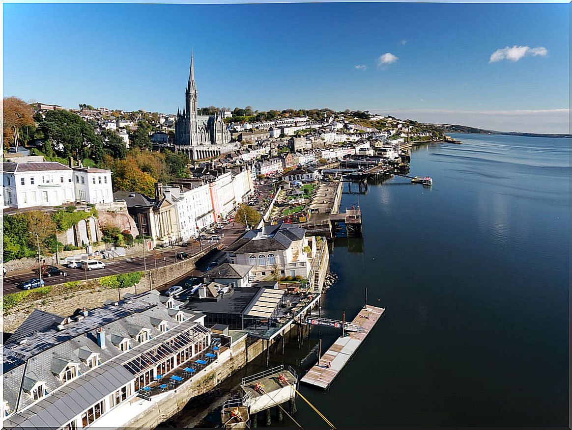
[[[18,160],[25,161],[25,160]],[[4,207],[113,202],[111,171],[56,162],[2,163]]]

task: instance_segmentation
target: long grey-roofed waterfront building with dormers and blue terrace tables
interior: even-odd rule
[[[150,291],[67,318],[33,311],[3,347],[2,427],[124,422],[123,405],[211,344],[205,316],[181,304]]]

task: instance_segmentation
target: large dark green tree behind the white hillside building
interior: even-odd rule
[[[80,115],[65,110],[46,113],[39,127],[45,138],[50,140],[54,151],[59,156],[74,156],[77,160],[89,158],[92,151],[99,150],[100,137],[93,126],[84,121]]]

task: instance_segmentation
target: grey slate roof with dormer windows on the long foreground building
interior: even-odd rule
[[[176,305],[180,303],[181,302],[175,302]],[[79,402],[81,407],[84,407],[83,402],[87,401],[89,403],[89,401],[91,401],[91,403],[84,407],[84,409],[88,408],[97,400],[101,399],[101,397],[93,401],[90,400],[93,397],[92,395],[82,397],[83,391],[80,393],[78,391],[79,388],[76,388],[76,394],[73,394],[73,390],[69,391],[70,387],[76,387],[76,385],[80,384],[75,381],[63,384],[54,373],[61,372],[68,363],[79,364],[80,375],[87,372],[89,372],[89,375],[93,375],[92,372],[100,372],[102,368],[107,368],[105,366],[107,361],[124,354],[124,352],[114,344],[112,339],[129,339],[130,347],[137,349],[137,346],[140,344],[136,339],[129,336],[129,327],[145,327],[149,329],[151,337],[149,342],[151,342],[157,336],[169,333],[162,333],[158,328],[155,328],[151,323],[151,318],[165,320],[168,322],[169,329],[177,329],[181,323],[177,322],[175,316],[180,311],[189,317],[185,323],[189,322],[194,324],[197,316],[201,316],[201,314],[197,312],[169,309],[161,302],[157,291],[150,291],[137,296],[129,296],[126,300],[119,302],[118,306],[108,304],[90,310],[88,316],[79,321],[71,319],[71,322],[64,325],[63,330],[53,328],[49,331],[30,333],[28,336],[21,337],[19,342],[4,345],[2,351],[4,372],[2,377],[3,400],[7,402],[10,411],[21,411],[33,403],[33,399],[30,395],[25,393],[20,395],[22,384],[26,377],[36,381],[45,381],[45,388],[48,393],[54,392],[55,390],[57,390],[58,393],[58,395],[54,393],[54,395],[46,396],[46,398],[41,400],[38,404],[23,411],[21,415],[18,414],[19,416],[14,418],[15,421],[11,423],[11,425],[6,425],[5,423],[4,427],[17,425],[18,420],[22,419],[22,417],[28,417],[29,411],[35,411],[35,408],[39,404],[43,404],[44,401],[49,400],[48,404],[57,403],[55,399],[57,399],[62,392],[70,393],[69,401]],[[98,327],[104,328],[105,348],[101,348],[97,343],[96,329]],[[22,343],[23,340],[26,341]],[[100,363],[104,364],[92,371],[84,358],[88,351],[97,353]],[[130,379],[133,379],[133,375],[127,371],[125,372],[122,372],[121,369],[110,369],[109,373],[106,371],[105,375],[94,379],[93,384],[98,385],[96,393],[104,388],[109,389],[107,392],[109,393],[114,387],[120,388],[121,385],[117,384],[121,384],[122,381],[126,383],[129,380],[126,379],[126,377],[129,376]],[[90,378],[91,376],[87,381],[90,381]],[[92,384],[85,382],[86,379],[84,379],[84,377],[80,377],[78,380],[79,379],[82,380],[81,387],[89,387],[89,384]],[[26,383],[29,384],[30,381],[26,380]],[[64,408],[63,405],[62,408]],[[66,408],[70,409],[69,404]],[[73,416],[83,411],[83,409],[80,410],[78,407],[72,407],[71,409],[74,412]],[[67,421],[70,419],[67,419]],[[11,418],[9,420],[11,420]],[[50,423],[53,422],[53,419],[51,419],[50,416],[42,415],[42,419],[37,421],[37,425],[34,425],[35,427],[59,428],[61,425],[67,423],[67,421],[59,421],[58,425],[52,426]],[[29,421],[26,425],[30,426],[33,422],[36,422],[35,419]]]

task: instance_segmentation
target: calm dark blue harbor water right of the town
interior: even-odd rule
[[[569,140],[455,137],[412,151],[432,188],[344,196],[365,237],[336,240],[321,313],[353,318],[364,287],[387,311],[328,391],[301,386],[337,427],[567,424]],[[271,365],[308,368],[337,336],[315,328]],[[324,424],[297,405],[304,427]]]

